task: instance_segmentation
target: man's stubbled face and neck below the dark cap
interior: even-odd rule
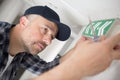
[[[10,53],[13,56],[23,51],[38,54],[51,44],[57,31],[55,23],[41,16],[23,16],[20,23],[11,30]]]

